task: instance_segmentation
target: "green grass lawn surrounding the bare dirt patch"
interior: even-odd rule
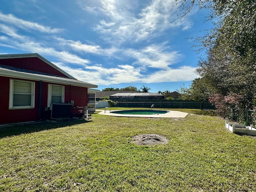
[[[256,138],[214,112],[180,111],[189,115],[0,128],[0,191],[256,191]],[[169,142],[138,146],[137,134]]]

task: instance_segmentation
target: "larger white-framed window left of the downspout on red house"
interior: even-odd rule
[[[35,82],[10,79],[10,109],[35,107]]]

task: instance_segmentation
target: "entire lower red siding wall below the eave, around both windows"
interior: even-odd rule
[[[9,110],[9,89],[10,78],[0,76],[0,124],[14,122],[28,122],[45,118],[49,118],[49,111],[45,111],[47,107],[48,83],[42,82],[42,105],[41,117],[38,115],[38,98],[39,98],[39,82],[35,82],[35,108],[34,109],[12,109]],[[74,107],[86,106],[88,103],[88,88],[65,85],[65,103],[74,100]],[[76,116],[78,110],[82,108],[72,108],[72,115]]]

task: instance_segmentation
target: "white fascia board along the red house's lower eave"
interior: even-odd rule
[[[68,79],[68,78],[54,78],[54,76],[46,76],[46,75],[38,75],[38,74],[30,74],[25,72],[16,72],[11,70],[2,70],[0,69],[0,76],[6,76],[11,78],[21,78],[26,80],[37,80],[43,82],[50,82],[50,83],[58,83],[58,84],[65,84],[65,85],[73,85],[73,86],[80,86],[80,87],[87,87],[87,88],[98,88],[98,85],[90,84],[87,82],[78,81],[76,79]]]

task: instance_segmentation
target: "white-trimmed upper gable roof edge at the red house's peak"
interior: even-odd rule
[[[61,68],[57,67],[56,65],[54,65],[53,63],[51,63],[50,61],[48,61],[46,58],[40,56],[38,53],[25,53],[25,54],[0,54],[0,59],[14,59],[14,58],[30,58],[30,57],[37,57],[40,60],[44,61],[45,63],[47,63],[48,65],[52,66],[53,68],[55,68],[56,70],[58,70],[59,72],[65,74],[66,76],[68,76],[71,79],[76,79],[73,76],[71,76],[70,74],[68,74],[67,72],[65,72],[64,70],[62,70]]]

